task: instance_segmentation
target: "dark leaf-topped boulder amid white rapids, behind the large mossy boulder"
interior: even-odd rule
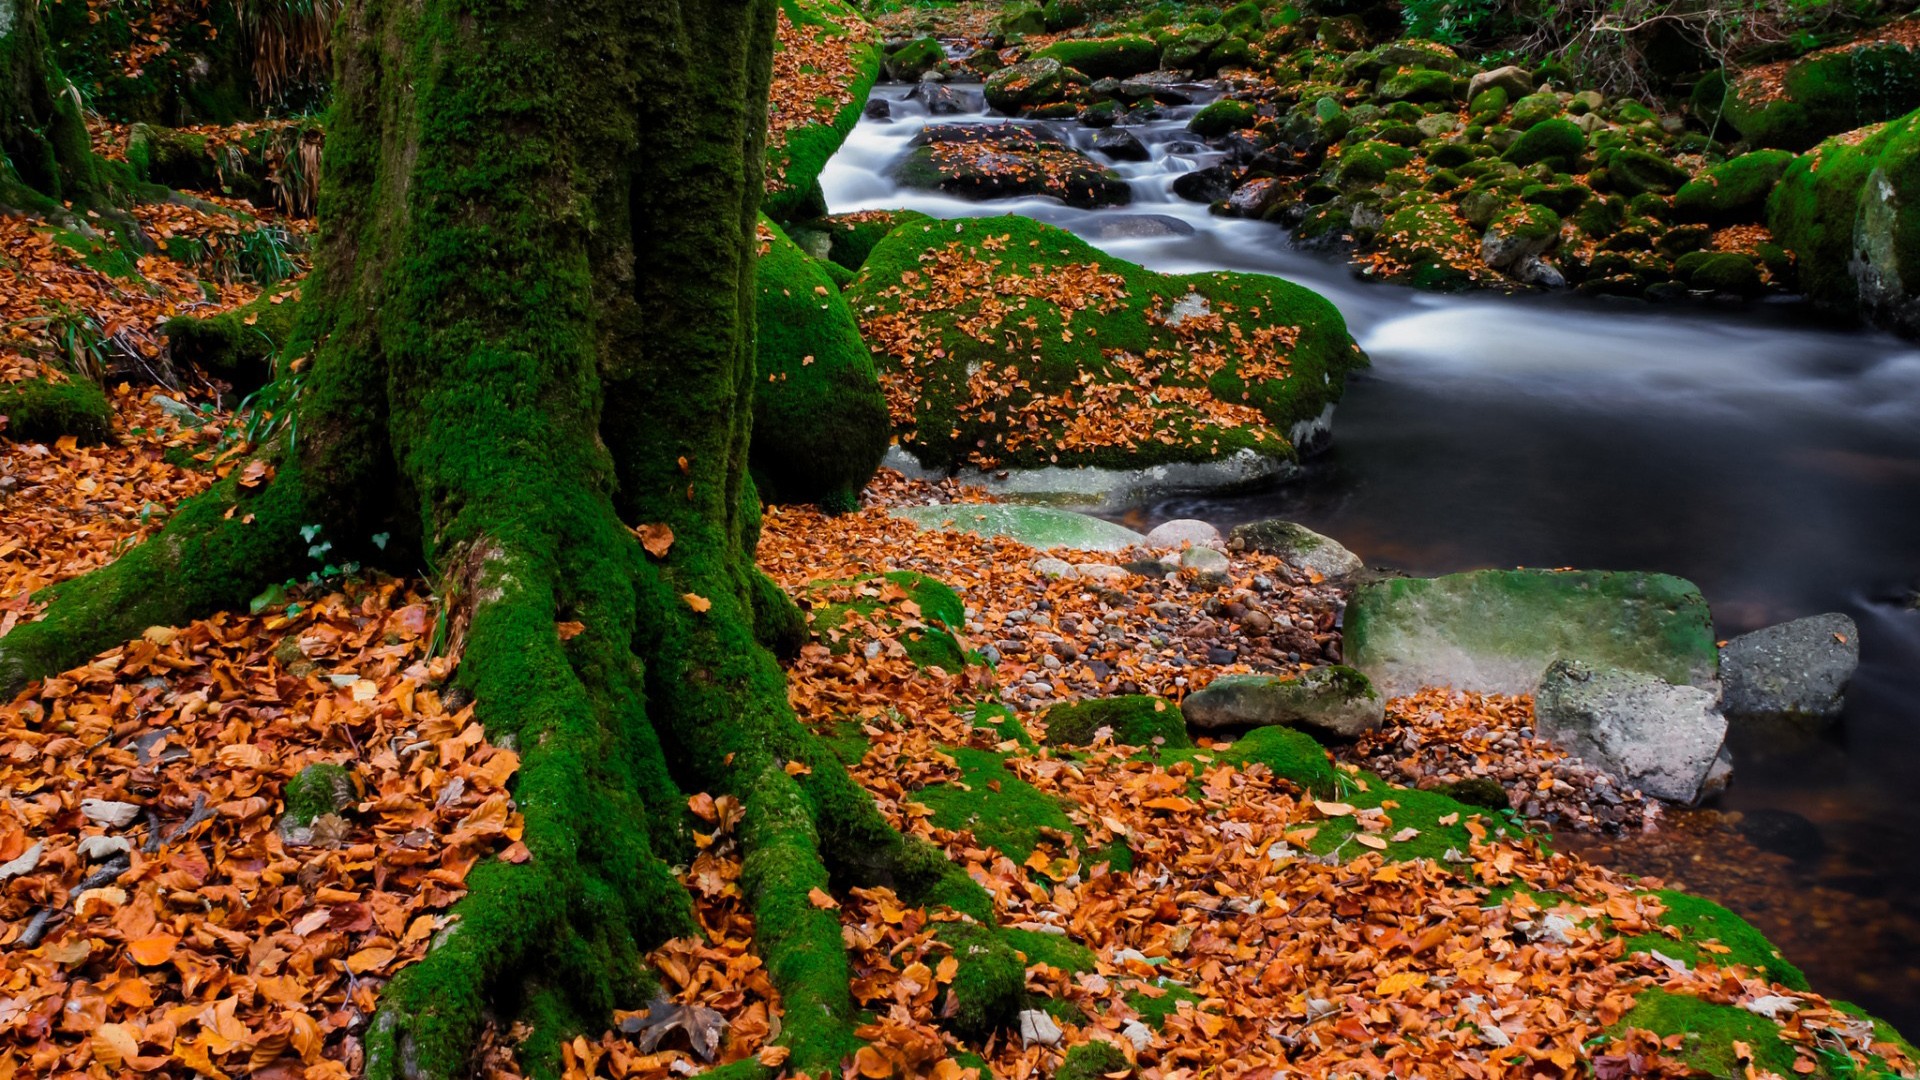
[[[1050,196],[1087,209],[1133,198],[1112,169],[1052,133],[1014,123],[929,125],[893,175],[910,188],[960,198]]]

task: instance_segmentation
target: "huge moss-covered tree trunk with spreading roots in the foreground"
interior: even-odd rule
[[[12,692],[305,573],[313,525],[336,557],[434,569],[459,678],[522,753],[532,859],[474,869],[459,922],[386,992],[372,1076],[461,1072],[490,1015],[530,1019],[528,1065],[551,1070],[561,1038],[643,1005],[645,949],[695,928],[670,871],[685,792],[745,807],[741,878],[793,1068],[854,1045],[839,922],[812,888],[893,884],[993,919],[797,723],[768,648],[799,632],[753,567],[745,473],[774,12],[349,4],[290,346],[313,359],[280,382],[298,450],[267,448],[267,484],[215,486],[0,640]],[[664,557],[639,525],[672,528]]]

